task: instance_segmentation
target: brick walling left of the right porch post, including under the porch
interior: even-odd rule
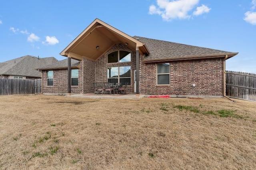
[[[109,53],[117,50],[131,52],[131,62],[107,63]],[[114,66],[131,66],[131,85],[127,87],[127,92],[133,90],[133,70],[136,69],[136,51],[122,44],[115,44],[96,61],[83,59],[80,61],[78,86],[71,86],[72,93],[93,93],[93,82],[107,82],[107,68]],[[47,71],[43,71],[43,93],[67,93],[68,92],[68,70],[53,70],[53,86],[47,86]]]

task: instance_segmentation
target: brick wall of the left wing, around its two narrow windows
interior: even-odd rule
[[[81,68],[78,70],[78,86],[71,86],[72,93],[82,93]],[[68,69],[53,70],[53,86],[47,86],[47,71],[43,71],[43,93],[68,93]]]

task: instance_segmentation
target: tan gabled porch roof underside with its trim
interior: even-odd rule
[[[122,43],[134,50],[138,47],[140,53],[149,54],[144,43],[96,19],[60,55],[78,60],[87,58],[96,61],[116,43]]]

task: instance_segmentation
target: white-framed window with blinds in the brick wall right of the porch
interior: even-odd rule
[[[157,64],[157,84],[170,84],[170,63]]]

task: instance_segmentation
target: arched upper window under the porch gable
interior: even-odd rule
[[[130,62],[131,53],[129,51],[114,51],[108,54],[108,63]]]

